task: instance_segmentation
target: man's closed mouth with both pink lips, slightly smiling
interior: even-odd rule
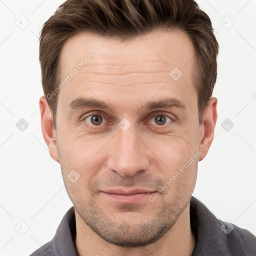
[[[155,191],[152,190],[139,188],[126,191],[123,189],[108,189],[101,192],[110,200],[126,204],[138,203],[142,200],[148,199],[150,195],[155,193]]]

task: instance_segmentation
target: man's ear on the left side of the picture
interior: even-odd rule
[[[56,145],[56,131],[53,125],[50,107],[47,103],[45,96],[40,97],[39,107],[41,114],[42,136],[44,138],[45,143],[47,144],[51,158],[59,162]]]

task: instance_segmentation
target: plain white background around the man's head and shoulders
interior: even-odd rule
[[[43,140],[38,109],[38,35],[61,3],[0,0],[0,256],[29,255],[51,240],[72,206]],[[211,18],[220,52],[215,137],[199,163],[193,195],[217,218],[256,235],[256,0],[197,3]],[[24,29],[16,24],[28,22],[21,15],[29,21]],[[16,127],[21,118],[29,124],[24,131]],[[221,127],[226,118],[234,124],[229,131]],[[29,226],[24,234],[15,229],[25,231],[21,220]]]

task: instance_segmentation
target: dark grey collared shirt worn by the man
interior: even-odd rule
[[[246,229],[217,219],[207,207],[191,197],[190,225],[195,238],[191,256],[256,256],[256,237]],[[53,239],[30,256],[78,256],[74,207],[62,218]]]

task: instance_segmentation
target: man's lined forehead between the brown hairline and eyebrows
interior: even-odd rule
[[[193,66],[192,42],[181,30],[155,30],[124,41],[79,33],[69,38],[61,51],[60,83],[64,86],[58,101],[67,106],[80,96],[95,97],[93,92],[100,92],[104,99],[119,99],[124,107],[127,95],[134,101],[148,101],[155,94],[159,97],[168,92],[187,101],[195,93]]]

